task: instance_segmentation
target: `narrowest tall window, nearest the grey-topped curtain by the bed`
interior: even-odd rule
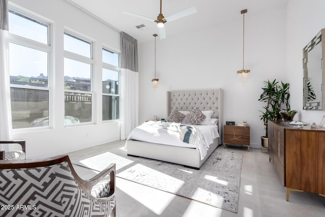
[[[119,55],[103,49],[103,120],[119,119]]]

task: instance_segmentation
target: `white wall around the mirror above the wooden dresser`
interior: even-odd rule
[[[303,105],[303,48],[325,28],[325,1],[290,0],[286,12],[286,78],[290,81],[290,105],[299,120],[316,125],[325,111],[307,111]],[[296,116],[297,116],[296,115]]]

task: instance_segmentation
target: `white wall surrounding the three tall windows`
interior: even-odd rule
[[[57,154],[91,147],[118,140],[120,138],[120,122],[102,123],[102,46],[110,46],[120,50],[120,33],[106,24],[94,19],[82,10],[64,0],[12,0],[10,5],[22,7],[36,15],[43,16],[53,22],[54,31],[54,115],[53,129],[40,131],[14,130],[14,139],[26,140],[27,158],[50,157]],[[93,125],[64,127],[64,92],[63,92],[63,29],[69,28],[94,40],[94,98],[98,101],[94,106]]]

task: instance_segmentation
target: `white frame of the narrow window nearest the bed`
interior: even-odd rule
[[[103,69],[107,69],[107,70],[112,70],[112,71],[116,71],[118,72],[118,82],[119,82],[119,85],[118,85],[118,94],[106,94],[103,92],[103,90],[101,91],[102,92],[102,109],[103,109],[103,96],[113,96],[113,97],[119,97],[119,108],[121,108],[121,88],[120,88],[120,78],[121,78],[121,52],[120,51],[117,51],[116,49],[113,49],[113,48],[110,48],[109,46],[103,46],[102,47],[102,52],[103,50],[106,50],[108,52],[112,52],[112,53],[116,53],[118,55],[118,66],[114,66],[114,65],[111,65],[111,64],[108,64],[108,63],[104,63],[103,61],[103,56],[102,56],[102,76],[101,76],[101,82],[102,82],[102,86],[103,86]],[[101,87],[102,89],[103,87]],[[120,121],[121,119],[121,113],[120,113],[121,109],[119,109],[119,119],[112,119],[112,120],[103,120],[103,115],[102,115],[102,122],[103,123],[107,123],[107,122],[117,122],[117,121]]]

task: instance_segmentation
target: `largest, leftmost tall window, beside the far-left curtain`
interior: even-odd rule
[[[50,27],[9,10],[9,69],[13,129],[49,126]]]

